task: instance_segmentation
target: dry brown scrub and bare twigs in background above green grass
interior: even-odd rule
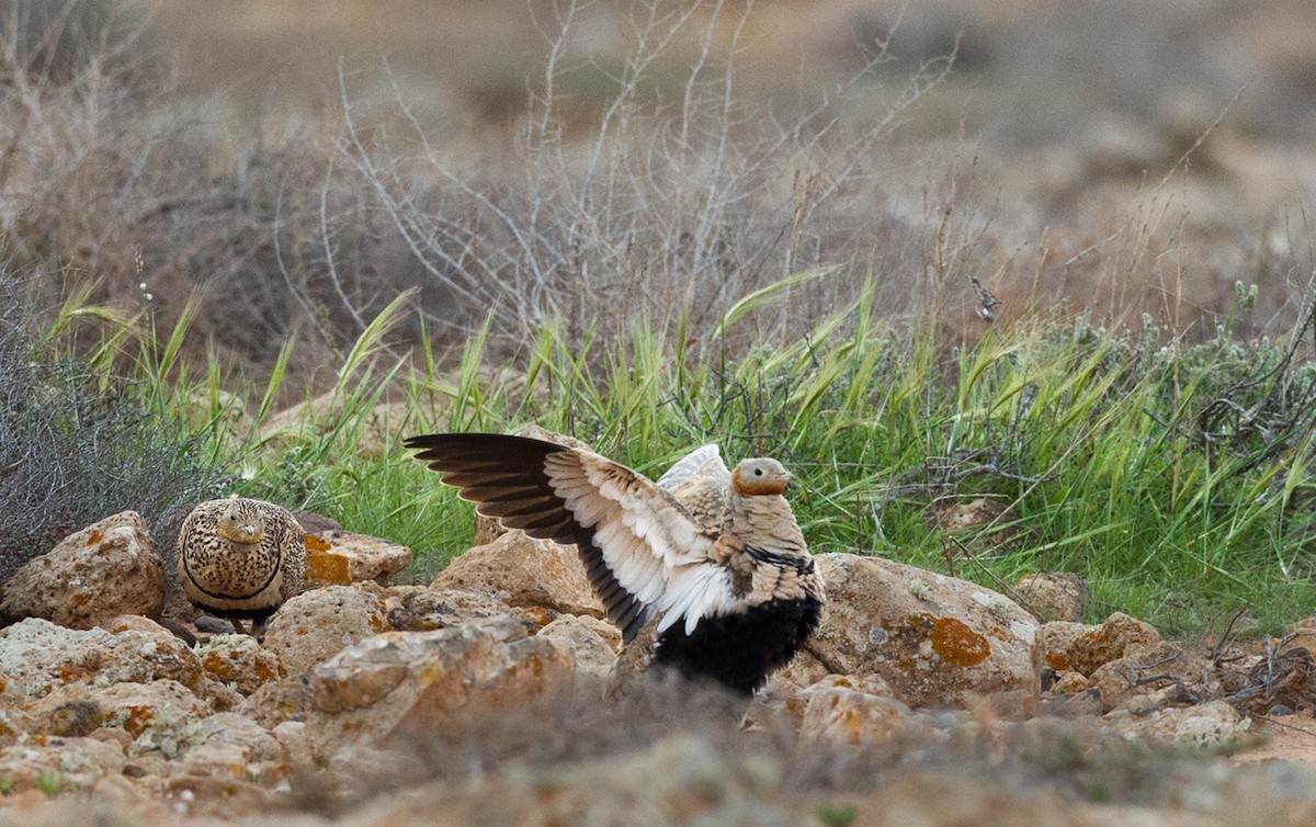
[[[1277,171],[1299,145],[1258,101],[1299,88],[1299,58],[1254,47],[1238,61],[1288,86],[1240,91],[1240,68],[1167,43],[1267,24],[1162,9],[1078,72],[1066,47],[1130,12],[1090,7],[17,4],[7,257],[50,299],[95,282],[134,307],[145,283],[166,327],[200,291],[195,342],[257,373],[300,331],[304,381],[411,286],[432,334],[492,313],[513,346],[547,319],[582,340],[687,312],[699,334],[804,271],[825,275],[755,336],[797,334],[865,284],[896,323],[976,331],[970,277],[1005,323],[1152,313],[1203,337],[1237,282],[1258,299],[1236,331],[1287,329],[1316,171]],[[1134,82],[1175,58],[1203,72]]]

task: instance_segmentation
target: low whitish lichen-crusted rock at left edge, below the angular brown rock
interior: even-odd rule
[[[172,680],[207,693],[196,654],[145,618],[116,618],[108,629],[29,618],[0,629],[0,702],[7,705],[30,703],[68,683]]]

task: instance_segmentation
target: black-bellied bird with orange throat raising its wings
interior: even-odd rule
[[[434,433],[405,445],[505,528],[574,543],[628,649],[645,649],[632,661],[751,693],[819,624],[822,581],[776,460],[728,470],[704,445],[654,483],[526,437]]]

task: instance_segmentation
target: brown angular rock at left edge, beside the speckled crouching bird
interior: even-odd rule
[[[68,535],[17,572],[4,587],[0,612],[43,618],[76,629],[117,615],[159,618],[164,565],[136,511],[124,511]]]

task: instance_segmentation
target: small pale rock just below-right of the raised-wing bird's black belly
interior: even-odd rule
[[[890,694],[883,681],[876,691],[848,676],[828,676],[801,690],[804,722],[800,735],[850,747],[892,744],[911,727],[912,712]]]

